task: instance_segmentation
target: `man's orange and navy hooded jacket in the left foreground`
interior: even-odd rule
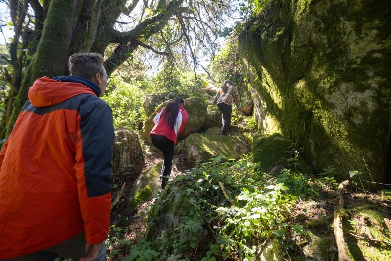
[[[0,152],[0,259],[85,231],[106,239],[111,206],[112,111],[84,78],[42,77]]]

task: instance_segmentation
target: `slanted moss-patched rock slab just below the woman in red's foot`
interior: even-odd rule
[[[137,206],[148,200],[151,200],[153,195],[158,190],[160,182],[157,178],[163,166],[163,161],[153,165],[144,171],[137,180],[133,183],[133,189],[130,192],[128,208],[135,209]]]

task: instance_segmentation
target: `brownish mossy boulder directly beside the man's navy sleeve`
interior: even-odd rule
[[[113,173],[125,171],[141,155],[138,135],[129,129],[114,131]]]

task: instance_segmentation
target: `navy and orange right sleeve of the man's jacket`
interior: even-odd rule
[[[92,97],[79,108],[75,170],[87,243],[98,244],[109,233],[114,130],[111,108]]]

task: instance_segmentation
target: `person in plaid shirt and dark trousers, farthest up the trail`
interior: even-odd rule
[[[235,100],[236,107],[239,106],[239,94],[232,81],[225,81],[224,85],[218,88],[211,108],[217,104],[223,114],[221,119],[223,127],[221,128],[221,135],[227,135],[229,125],[231,124],[232,102]]]

